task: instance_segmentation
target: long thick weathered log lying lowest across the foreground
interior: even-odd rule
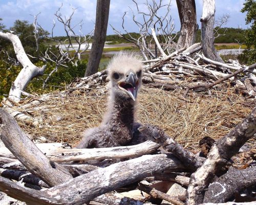
[[[0,177],[0,190],[18,200],[38,205],[78,205],[163,170],[181,168],[182,164],[175,157],[167,157],[165,154],[143,155],[83,174],[48,190],[31,190]]]

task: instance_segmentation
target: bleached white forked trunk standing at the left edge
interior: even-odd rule
[[[13,44],[13,48],[16,54],[16,57],[20,64],[22,64],[23,69],[19,72],[17,78],[12,83],[9,98],[13,101],[19,101],[20,96],[24,93],[28,83],[32,78],[44,74],[46,65],[42,67],[35,66],[27,54],[24,51],[22,42],[20,42],[17,35],[11,33],[2,33],[0,32],[0,38],[6,39]]]

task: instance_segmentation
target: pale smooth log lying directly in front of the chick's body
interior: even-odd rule
[[[154,152],[160,147],[157,143],[151,141],[133,146],[94,149],[65,149],[62,148],[65,145],[61,146],[61,143],[36,144],[36,146],[51,161],[58,163],[135,157]],[[0,148],[0,157],[1,156],[15,158],[7,148]]]

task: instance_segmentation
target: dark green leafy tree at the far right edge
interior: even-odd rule
[[[251,24],[251,26],[245,31],[247,49],[238,58],[242,63],[249,65],[256,62],[256,2],[254,0],[246,0],[241,12],[247,12],[246,24]]]

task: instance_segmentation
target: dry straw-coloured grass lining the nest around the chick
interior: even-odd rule
[[[255,105],[254,101],[247,102],[229,89],[226,92],[212,91],[211,96],[193,93],[186,100],[181,96],[179,92],[142,88],[137,119],[141,123],[158,125],[183,146],[193,149],[198,148],[198,142],[204,136],[214,139],[224,136]],[[19,125],[33,138],[44,136],[49,142],[75,144],[80,141],[84,129],[100,124],[107,100],[105,88],[73,97],[53,97],[40,104],[38,111],[33,111],[33,115],[43,119],[40,128],[23,122]]]

